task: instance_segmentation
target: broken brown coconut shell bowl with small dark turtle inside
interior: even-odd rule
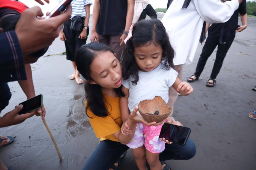
[[[156,96],[152,100],[142,100],[138,105],[138,110],[146,121],[158,123],[170,115],[172,108],[160,96]]]

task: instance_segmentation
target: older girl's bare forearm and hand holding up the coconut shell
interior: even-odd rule
[[[134,110],[132,111],[132,113],[130,113],[130,115],[128,117],[128,120],[127,120],[127,123],[128,123],[128,126],[130,127],[130,130],[132,130],[131,134],[128,134],[128,135],[122,134],[121,133],[122,129],[120,131],[112,134],[116,139],[118,139],[118,141],[120,141],[120,143],[122,143],[124,145],[129,143],[132,140],[132,137],[134,136],[135,128],[136,128],[136,125],[137,125],[138,122],[142,122],[146,126],[152,126],[152,125],[156,124],[156,122],[147,122],[143,117],[140,117],[137,114],[137,111],[138,111],[138,106],[136,106],[134,108]]]

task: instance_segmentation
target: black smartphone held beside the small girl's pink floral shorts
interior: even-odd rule
[[[184,146],[188,140],[190,132],[191,129],[189,127],[164,123],[159,138],[165,138],[168,141]]]

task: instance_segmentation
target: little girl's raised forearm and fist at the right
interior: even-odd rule
[[[187,82],[182,82],[178,77],[176,78],[172,87],[182,96],[188,96],[193,92],[192,86],[190,86],[190,84]]]

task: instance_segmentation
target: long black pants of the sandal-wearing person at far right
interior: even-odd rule
[[[198,77],[201,75],[202,71],[204,70],[204,66],[206,64],[207,59],[210,57],[210,55],[212,55],[212,52],[214,51],[215,47],[218,45],[216,59],[215,59],[215,62],[212,68],[212,73],[210,76],[210,78],[215,79],[220,72],[224,58],[226,57],[226,54],[228,53],[228,49],[232,45],[235,36],[236,36],[235,31],[230,33],[228,37],[224,36],[223,39],[225,40],[226,43],[220,44],[219,36],[208,35],[196,66],[196,72],[194,74]]]

